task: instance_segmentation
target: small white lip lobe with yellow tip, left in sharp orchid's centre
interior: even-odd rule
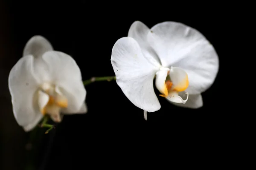
[[[166,88],[165,81],[166,81],[166,77],[167,77],[167,74],[168,74],[169,70],[170,70],[169,68],[161,68],[156,73],[156,87],[157,87],[157,90],[159,90],[161,94],[164,94],[166,96],[168,95],[168,90]]]

